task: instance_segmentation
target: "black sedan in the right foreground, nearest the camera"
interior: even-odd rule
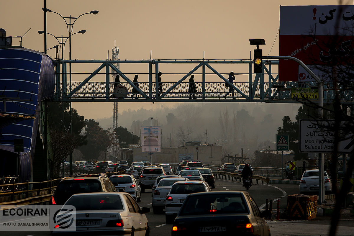
[[[245,191],[216,191],[189,194],[173,222],[172,236],[259,235],[270,236],[252,196]],[[198,223],[196,223],[198,222]]]

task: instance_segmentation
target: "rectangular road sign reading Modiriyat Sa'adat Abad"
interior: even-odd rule
[[[354,135],[348,127],[350,124],[341,121],[335,130],[335,120],[300,120],[299,151],[300,152],[334,152],[335,132],[341,140],[338,142],[338,153],[350,153],[354,150]]]

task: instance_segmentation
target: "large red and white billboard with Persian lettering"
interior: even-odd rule
[[[354,65],[353,31],[354,6],[280,6],[279,55],[296,57],[331,81],[333,68]],[[298,63],[284,59],[279,80],[315,81]]]

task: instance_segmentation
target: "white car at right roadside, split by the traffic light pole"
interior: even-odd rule
[[[318,169],[307,169],[302,174],[299,190],[300,194],[305,192],[315,192],[318,194]],[[332,181],[326,171],[324,171],[324,183],[325,183],[325,192],[332,191]]]

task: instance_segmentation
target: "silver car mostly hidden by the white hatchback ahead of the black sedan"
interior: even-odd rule
[[[153,190],[152,203],[153,203],[154,214],[160,214],[164,210],[166,196],[170,192],[171,186],[177,181],[187,181],[187,180],[188,180],[187,178],[181,178],[181,177],[161,178],[161,181],[158,183],[155,190]]]

